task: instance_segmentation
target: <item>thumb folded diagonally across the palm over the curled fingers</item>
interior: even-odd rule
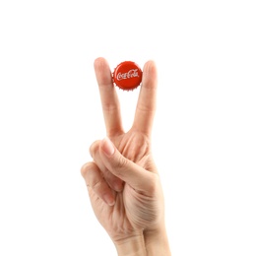
[[[146,194],[155,188],[156,173],[150,172],[135,162],[124,158],[106,137],[99,145],[100,158],[106,168],[131,187]]]

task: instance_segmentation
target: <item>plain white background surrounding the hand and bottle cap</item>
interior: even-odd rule
[[[0,1],[0,255],[116,255],[81,165],[94,60],[159,69],[153,150],[173,256],[256,255],[255,1]],[[139,89],[118,91],[132,122]]]

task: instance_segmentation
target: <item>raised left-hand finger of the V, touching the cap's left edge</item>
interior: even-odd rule
[[[112,83],[110,68],[104,58],[95,60],[95,71],[106,134],[112,137],[123,132],[118,96]]]

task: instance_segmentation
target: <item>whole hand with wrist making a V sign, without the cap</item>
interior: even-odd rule
[[[83,165],[92,207],[118,255],[170,255],[164,226],[160,176],[151,151],[158,76],[154,61],[143,68],[134,122],[122,128],[120,104],[108,63],[95,61],[106,135],[90,148]]]

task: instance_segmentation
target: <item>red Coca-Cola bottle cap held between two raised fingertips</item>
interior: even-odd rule
[[[142,70],[136,63],[124,61],[114,69],[113,82],[123,90],[133,90],[142,82]]]

